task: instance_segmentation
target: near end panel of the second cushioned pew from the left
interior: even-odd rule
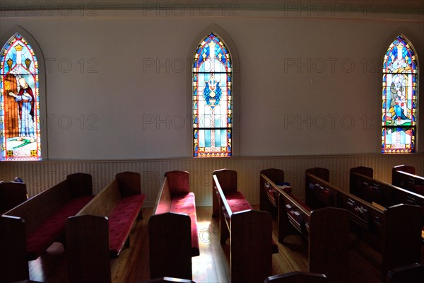
[[[109,223],[105,216],[83,214],[66,221],[69,283],[110,283]]]

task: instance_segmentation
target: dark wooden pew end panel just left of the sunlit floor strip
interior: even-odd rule
[[[187,214],[167,212],[148,221],[150,276],[192,279],[191,220]]]

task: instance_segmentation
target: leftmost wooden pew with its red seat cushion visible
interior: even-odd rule
[[[64,243],[66,219],[92,198],[91,175],[74,173],[1,215],[0,278],[29,279],[28,260],[56,241]]]

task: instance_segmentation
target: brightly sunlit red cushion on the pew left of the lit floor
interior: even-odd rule
[[[176,195],[172,198],[170,212],[187,214],[192,222],[192,256],[199,253],[199,236],[197,229],[196,204],[194,192],[184,195]]]

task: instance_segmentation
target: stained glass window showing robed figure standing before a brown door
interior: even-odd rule
[[[0,52],[0,161],[41,159],[38,62],[16,33]]]

